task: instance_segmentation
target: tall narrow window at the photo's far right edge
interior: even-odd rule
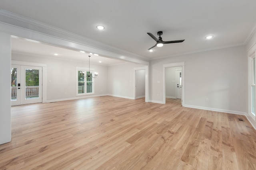
[[[251,112],[255,116],[255,57],[251,60]]]

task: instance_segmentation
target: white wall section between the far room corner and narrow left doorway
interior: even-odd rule
[[[134,99],[134,68],[139,66],[143,65],[125,63],[108,66],[108,94]]]

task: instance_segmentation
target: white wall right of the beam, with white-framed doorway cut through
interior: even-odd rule
[[[245,46],[238,46],[153,60],[150,100],[163,100],[163,64],[184,61],[185,106],[245,114],[248,102],[245,56]]]

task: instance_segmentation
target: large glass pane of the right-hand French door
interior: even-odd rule
[[[39,70],[26,68],[26,99],[39,98]]]

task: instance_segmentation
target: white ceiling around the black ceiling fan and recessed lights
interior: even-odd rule
[[[256,0],[0,1],[3,10],[149,60],[246,44],[256,29],[255,7]],[[150,53],[156,42],[147,32],[158,37],[157,31],[163,41],[185,41]]]

